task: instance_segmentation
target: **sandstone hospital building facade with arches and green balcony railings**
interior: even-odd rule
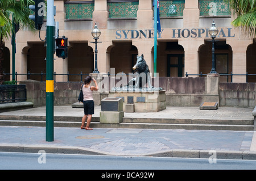
[[[222,0],[159,1],[162,31],[157,41],[157,72],[160,77],[185,77],[208,74],[212,68],[212,38],[208,30],[216,23],[216,71],[234,75],[232,82],[255,82],[256,40],[231,24],[234,15]],[[108,73],[133,72],[137,55],[144,55],[150,71],[154,71],[154,9],[151,0],[55,0],[55,22],[59,36],[68,37],[68,57],[55,56],[56,81],[67,81],[63,74],[89,74],[94,70],[95,45],[92,30],[96,23],[101,31],[98,41],[98,70]],[[46,23],[45,23],[46,24]],[[46,36],[46,25],[40,37]],[[12,70],[11,39],[5,40],[5,73]],[[39,33],[19,30],[16,33],[15,71],[24,81],[30,73],[46,73],[46,47]],[[189,75],[189,77],[198,75]],[[11,76],[6,75],[6,79]],[[38,75],[30,79],[41,80]],[[43,81],[45,81],[43,76]],[[69,77],[80,81],[80,75]],[[221,75],[220,82],[230,82]]]

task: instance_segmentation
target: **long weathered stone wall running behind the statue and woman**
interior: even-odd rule
[[[99,82],[99,81],[98,81]],[[154,79],[152,80],[154,85]],[[46,105],[46,83],[27,80],[27,101],[34,107]],[[78,102],[80,82],[54,83],[54,104]],[[220,106],[255,107],[255,83],[219,83],[218,77],[159,77],[159,87],[166,90],[166,106],[200,106],[203,102],[219,102]],[[95,105],[108,93],[93,92]]]

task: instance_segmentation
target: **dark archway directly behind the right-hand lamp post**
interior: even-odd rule
[[[230,82],[228,75],[232,72],[232,48],[226,44],[226,40],[216,40],[214,44],[216,71],[220,74],[220,82]],[[199,47],[199,72],[210,73],[212,69],[212,40],[205,40],[204,45]]]

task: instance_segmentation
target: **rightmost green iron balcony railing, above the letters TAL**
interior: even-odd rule
[[[200,0],[200,16],[231,15],[229,3],[225,0]]]

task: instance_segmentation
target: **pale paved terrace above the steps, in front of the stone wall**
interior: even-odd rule
[[[100,106],[95,106],[93,117],[100,117]],[[125,117],[143,118],[179,118],[179,119],[230,119],[230,120],[253,120],[253,108],[240,107],[219,107],[217,110],[200,110],[199,107],[166,107],[159,112],[125,112]],[[36,107],[18,111],[1,112],[2,115],[13,116],[46,116],[46,107]],[[54,116],[81,117],[84,115],[82,108],[72,108],[71,106],[55,106]]]

